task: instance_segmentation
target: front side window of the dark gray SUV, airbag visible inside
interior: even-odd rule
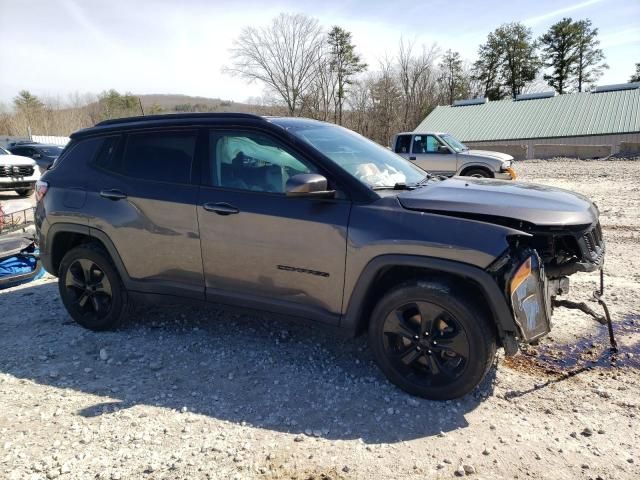
[[[219,187],[284,193],[293,175],[315,173],[296,154],[258,133],[212,132],[209,148],[210,184]]]

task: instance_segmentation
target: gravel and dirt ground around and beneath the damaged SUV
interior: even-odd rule
[[[600,207],[614,362],[604,327],[559,309],[540,346],[430,402],[387,383],[364,338],[216,307],[93,333],[47,277],[0,292],[0,478],[640,478],[640,162],[517,170]],[[596,283],[573,276],[571,298]]]

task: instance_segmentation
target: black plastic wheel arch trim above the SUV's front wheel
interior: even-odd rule
[[[472,265],[433,257],[382,255],[371,260],[356,282],[340,326],[353,335],[362,333],[381,296],[393,286],[411,279],[430,279],[470,288],[473,301],[481,303],[481,308],[495,325],[498,341],[508,353],[515,353],[517,326],[493,277]]]

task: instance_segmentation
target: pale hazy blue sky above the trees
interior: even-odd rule
[[[600,84],[628,81],[640,62],[640,0],[0,0],[0,103],[22,89],[64,100],[110,88],[246,101],[263,87],[222,72],[229,49],[243,27],[280,12],[351,31],[370,69],[401,37],[473,61],[502,23],[537,37],[565,16],[599,29],[610,66]]]

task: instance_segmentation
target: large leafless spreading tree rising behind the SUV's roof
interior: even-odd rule
[[[260,81],[277,92],[290,115],[311,88],[324,43],[316,19],[281,13],[267,27],[245,27],[231,49],[225,71]]]

